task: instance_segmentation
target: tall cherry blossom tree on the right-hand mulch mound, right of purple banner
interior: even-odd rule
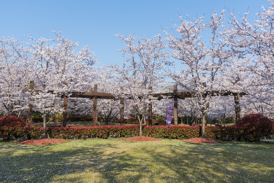
[[[206,24],[203,19],[204,16],[197,20],[183,20],[179,16],[180,23],[174,23],[176,35],[165,31],[171,49],[170,56],[186,68],[175,73],[169,72],[169,76],[198,98],[202,113],[202,137],[205,136],[206,114],[211,100],[204,94],[207,90],[211,92],[220,88],[222,81],[218,80],[219,70],[235,54],[225,41],[224,10],[219,16],[211,13],[210,21]],[[203,41],[201,36],[207,29],[211,30],[209,42]]]

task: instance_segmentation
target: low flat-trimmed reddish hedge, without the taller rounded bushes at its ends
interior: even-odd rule
[[[236,127],[206,127],[206,138],[221,140],[240,139]],[[189,126],[144,126],[143,135],[155,138],[188,139],[199,137],[201,127]],[[47,128],[50,138],[108,138],[138,136],[139,126],[101,126],[101,127],[70,127]],[[0,137],[5,139],[24,138],[35,139],[42,137],[42,127],[1,127]]]

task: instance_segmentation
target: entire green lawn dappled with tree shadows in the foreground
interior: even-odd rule
[[[274,144],[0,142],[0,182],[274,182]]]

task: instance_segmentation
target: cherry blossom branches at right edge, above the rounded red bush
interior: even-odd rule
[[[253,76],[247,81],[250,83],[247,90],[250,102],[253,101],[255,108],[261,108],[260,113],[271,115],[262,108],[274,110],[274,2],[270,1],[268,9],[263,6],[261,9],[254,23],[248,21],[249,13],[239,19],[230,13],[232,28],[229,37],[230,44],[244,52],[250,62],[245,68]]]

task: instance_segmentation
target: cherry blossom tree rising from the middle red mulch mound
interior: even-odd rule
[[[129,103],[136,113],[140,125],[139,136],[142,136],[142,123],[148,104],[153,98],[150,94],[159,84],[163,83],[161,68],[164,64],[165,48],[164,40],[160,35],[153,38],[138,38],[130,35],[128,38],[117,35],[125,44],[126,48],[121,49],[124,55],[127,55],[126,62],[122,67],[112,66],[117,74],[119,84],[118,97],[131,99]]]

